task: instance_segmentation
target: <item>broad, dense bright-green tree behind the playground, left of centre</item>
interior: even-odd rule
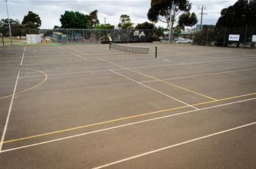
[[[74,28],[74,29],[87,29],[87,18],[85,14],[81,14],[80,12],[73,11],[65,11],[61,18],[59,18],[61,22],[61,28]]]

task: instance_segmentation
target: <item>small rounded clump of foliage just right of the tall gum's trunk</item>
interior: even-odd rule
[[[178,26],[184,30],[185,27],[193,27],[196,25],[197,21],[197,15],[194,12],[192,12],[192,14],[190,14],[190,12],[184,12],[179,17]]]

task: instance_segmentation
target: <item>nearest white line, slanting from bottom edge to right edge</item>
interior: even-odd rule
[[[183,144],[188,144],[188,143],[190,143],[190,142],[195,142],[195,141],[202,140],[202,139],[205,139],[205,138],[210,138],[210,137],[212,137],[212,136],[217,136],[218,134],[224,134],[224,133],[227,133],[227,132],[231,132],[231,131],[233,131],[233,130],[236,130],[236,129],[241,129],[241,128],[243,128],[243,127],[248,127],[248,126],[250,126],[250,125],[255,125],[255,124],[256,124],[256,121],[253,122],[253,123],[248,123],[248,124],[246,124],[246,125],[240,125],[240,126],[238,126],[238,127],[233,127],[233,128],[231,128],[231,129],[226,129],[226,130],[223,130],[223,131],[221,131],[221,132],[216,132],[216,133],[214,133],[214,134],[209,134],[209,135],[202,136],[202,137],[199,137],[199,138],[194,138],[194,139],[192,139],[192,140],[187,140],[187,141],[185,141],[185,142],[180,142],[180,143],[177,143],[177,144],[173,144],[173,145],[171,145],[171,146],[162,147],[161,149],[156,149],[156,150],[154,150],[154,151],[148,151],[148,152],[146,152],[146,153],[142,153],[142,154],[139,154],[139,155],[134,155],[134,156],[132,156],[132,157],[128,157],[128,158],[125,158],[125,159],[121,159],[121,160],[119,160],[119,161],[112,162],[112,163],[109,163],[109,164],[105,164],[105,165],[103,165],[103,166],[98,166],[98,167],[92,168],[92,169],[99,169],[99,168],[104,168],[104,167],[112,166],[112,165],[115,165],[115,164],[118,164],[118,163],[126,162],[126,161],[128,161],[128,160],[130,160],[130,159],[139,158],[139,157],[142,157],[142,156],[145,156],[145,155],[149,155],[149,154],[152,154],[152,153],[156,153],[156,152],[158,152],[158,151],[163,151],[163,150],[166,150],[166,149],[171,149],[171,148],[173,148],[173,147],[178,147],[178,146],[181,146],[181,145],[183,145]]]

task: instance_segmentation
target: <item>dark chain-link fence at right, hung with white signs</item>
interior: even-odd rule
[[[235,35],[236,39],[231,39]],[[256,27],[204,27],[193,33],[193,44],[223,47],[255,48]]]

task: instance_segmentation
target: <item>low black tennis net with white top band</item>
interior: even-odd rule
[[[147,54],[148,50],[150,50],[149,47],[141,47],[141,46],[125,46],[125,45],[121,45],[121,44],[114,44],[114,43],[110,43],[109,44],[109,49],[113,48],[116,50],[122,50],[125,52],[133,52],[133,53],[143,53],[143,54]]]

